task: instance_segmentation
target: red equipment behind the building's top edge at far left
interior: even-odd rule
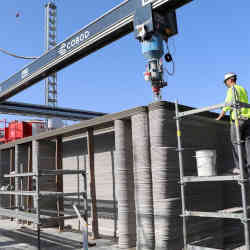
[[[13,121],[8,123],[6,120],[1,120],[1,122],[4,125],[0,128],[0,143],[22,139],[34,135],[37,130],[44,130],[44,123],[41,121]]]

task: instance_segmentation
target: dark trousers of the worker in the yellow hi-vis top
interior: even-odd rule
[[[241,150],[243,157],[243,167],[250,174],[250,119],[239,120],[240,136],[241,136]],[[235,123],[231,123],[230,129],[234,167],[239,168],[239,153],[237,148],[237,138]]]

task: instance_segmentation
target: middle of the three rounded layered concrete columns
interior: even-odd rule
[[[155,249],[152,169],[147,110],[132,116],[137,249]]]

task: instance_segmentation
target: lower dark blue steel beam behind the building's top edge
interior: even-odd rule
[[[20,114],[38,117],[60,117],[64,120],[87,120],[105,115],[101,112],[87,110],[49,107],[46,105],[28,104],[19,102],[2,102],[0,103],[0,112],[4,114]]]

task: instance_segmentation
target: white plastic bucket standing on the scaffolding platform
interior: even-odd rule
[[[198,150],[195,157],[198,176],[216,175],[216,150]]]

